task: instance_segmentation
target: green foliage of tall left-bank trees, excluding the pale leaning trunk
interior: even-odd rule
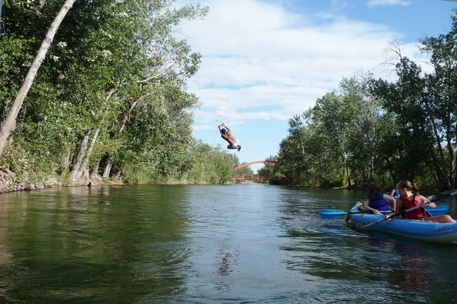
[[[1,116],[60,8],[4,1]],[[78,162],[100,166],[99,174],[110,163],[112,178],[133,183],[184,176],[194,161],[189,110],[197,104],[186,80],[201,56],[174,27],[207,11],[170,1],[76,1],[24,102],[6,166],[67,176]]]

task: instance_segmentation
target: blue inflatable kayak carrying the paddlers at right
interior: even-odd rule
[[[381,221],[384,216],[378,216],[372,213],[359,213],[358,206],[360,206],[359,203],[353,206],[348,215],[348,224],[356,228],[364,228],[368,225],[369,229],[400,235],[406,238],[457,245],[457,223],[436,223],[405,220],[402,218]]]

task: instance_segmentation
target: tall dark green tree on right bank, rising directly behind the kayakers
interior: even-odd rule
[[[436,147],[441,145],[441,131],[433,110],[436,99],[430,76],[424,75],[415,62],[401,56],[399,49],[396,54],[398,80],[389,83],[380,79],[371,83],[373,94],[383,99],[383,107],[395,116],[398,126],[397,133],[384,140],[386,146],[395,147],[391,166],[396,168],[397,181],[428,176],[439,188],[449,188],[446,173],[443,174],[443,167],[437,162]]]

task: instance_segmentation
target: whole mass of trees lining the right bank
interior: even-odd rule
[[[454,11],[455,14],[455,11]],[[447,34],[421,40],[424,72],[392,41],[386,68],[398,78],[344,78],[339,89],[289,120],[274,167],[283,183],[344,186],[408,179],[457,188],[457,19]]]

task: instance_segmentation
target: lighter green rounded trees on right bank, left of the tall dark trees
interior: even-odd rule
[[[400,172],[412,178],[423,173],[419,168],[427,154],[418,151],[415,145],[403,143],[403,138],[419,135],[402,137],[403,123],[410,127],[411,123],[404,116],[398,118],[394,111],[397,108],[388,108],[379,98],[380,91],[374,93],[373,83],[376,81],[370,78],[343,79],[339,92],[318,98],[316,106],[289,121],[290,134],[281,142],[278,158],[278,172],[287,183],[321,187],[368,181],[393,184],[401,178]],[[390,97],[392,104],[399,102],[393,101],[393,93]],[[417,119],[413,114],[407,117]],[[423,130],[419,126],[418,131]],[[421,142],[430,146],[423,131],[420,136]],[[406,158],[416,164],[411,166],[411,162],[405,162]]]

